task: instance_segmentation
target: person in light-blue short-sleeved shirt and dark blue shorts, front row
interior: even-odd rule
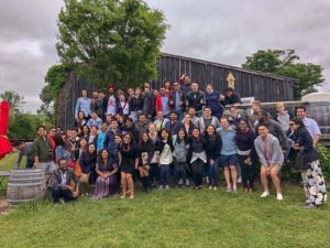
[[[229,126],[227,118],[221,118],[220,128],[217,132],[220,134],[222,143],[220,151],[220,164],[223,165],[224,179],[227,182],[227,192],[238,193],[238,148],[235,143],[237,131]]]

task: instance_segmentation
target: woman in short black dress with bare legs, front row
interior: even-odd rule
[[[122,195],[120,198],[127,196],[128,190],[130,191],[130,198],[134,198],[133,173],[134,170],[138,169],[139,154],[130,133],[123,136],[123,142],[119,149],[119,164],[122,187]]]

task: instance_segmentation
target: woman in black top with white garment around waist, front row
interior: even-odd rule
[[[202,184],[202,174],[207,162],[206,147],[204,138],[198,128],[193,129],[193,136],[189,141],[189,155],[193,169],[193,179],[195,190],[200,190]]]

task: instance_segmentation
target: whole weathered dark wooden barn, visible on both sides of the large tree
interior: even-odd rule
[[[294,100],[294,87],[299,84],[293,78],[165,53],[157,60],[157,68],[158,78],[152,80],[154,88],[158,88],[166,80],[178,80],[182,74],[187,74],[193,82],[200,84],[201,89],[210,83],[215,89],[222,91],[228,87],[231,73],[235,91],[242,97],[255,97],[261,101]],[[77,78],[75,72],[72,72],[57,98],[57,126],[69,128],[74,125],[75,105],[82,89],[91,94],[95,87],[85,78]]]

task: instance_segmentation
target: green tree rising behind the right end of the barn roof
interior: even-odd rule
[[[296,63],[298,60],[295,50],[260,50],[248,56],[242,67],[298,79],[299,88],[294,94],[296,99],[300,99],[306,94],[317,91],[316,87],[324,82],[324,77],[320,65]]]

